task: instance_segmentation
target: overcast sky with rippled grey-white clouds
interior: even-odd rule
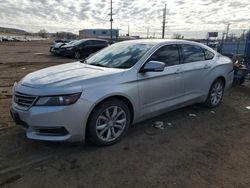
[[[204,36],[225,30],[227,23],[242,32],[250,27],[250,0],[114,0],[114,28],[132,35],[160,36],[164,4],[166,33]],[[0,26],[49,32],[78,33],[84,28],[109,28],[110,0],[0,0]]]

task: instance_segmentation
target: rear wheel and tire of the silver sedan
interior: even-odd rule
[[[210,87],[205,105],[209,108],[218,106],[224,96],[225,84],[222,79],[217,79]]]

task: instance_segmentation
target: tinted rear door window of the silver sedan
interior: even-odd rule
[[[205,60],[205,54],[201,47],[190,44],[182,44],[181,48],[183,63],[193,63]]]

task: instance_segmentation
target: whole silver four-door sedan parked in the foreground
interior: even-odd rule
[[[233,81],[229,58],[182,40],[116,43],[82,62],[33,72],[15,84],[11,114],[28,138],[99,145],[129,125],[193,103],[216,107]]]

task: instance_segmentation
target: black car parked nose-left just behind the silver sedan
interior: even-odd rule
[[[106,40],[82,39],[73,44],[62,46],[59,49],[59,55],[74,57],[76,59],[85,58],[108,45],[108,41]]]

